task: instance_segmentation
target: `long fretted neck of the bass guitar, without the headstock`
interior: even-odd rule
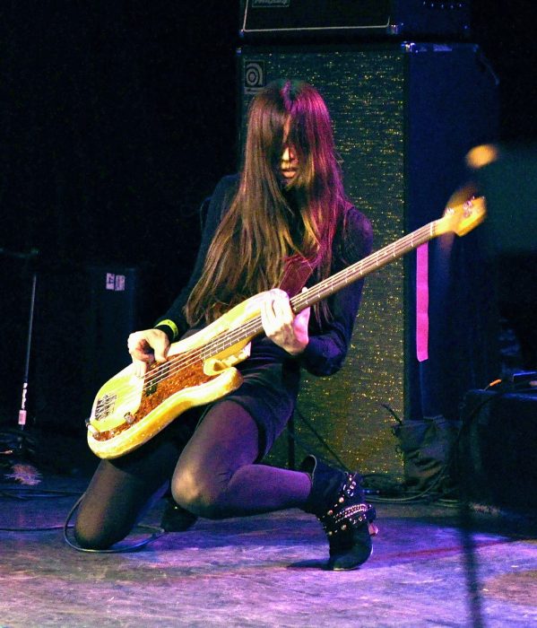
[[[326,299],[334,292],[342,290],[346,285],[362,279],[366,275],[369,275],[369,273],[377,270],[377,268],[386,266],[394,261],[394,259],[403,257],[405,253],[417,249],[421,244],[425,244],[425,242],[436,238],[437,235],[439,235],[437,231],[438,222],[439,221],[429,222],[429,224],[426,224],[416,231],[412,231],[400,240],[396,240],[392,244],[384,247],[384,249],[377,250],[375,253],[368,255],[368,257],[360,259],[359,262],[343,268],[339,273],[308,288],[307,292],[300,292],[290,300],[291,309],[295,314],[298,314],[311,305],[315,305],[318,301],[323,301],[323,299]],[[206,345],[203,357],[204,359],[212,357],[217,353],[221,353],[224,349],[261,334],[262,331],[263,324],[261,317],[257,316],[252,318],[241,327],[224,333],[222,336],[215,338],[212,343]]]

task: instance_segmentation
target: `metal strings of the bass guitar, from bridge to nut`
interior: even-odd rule
[[[396,240],[385,248],[379,249],[368,257],[359,260],[359,262],[347,268],[343,268],[332,277],[328,277],[325,281],[317,283],[316,286],[310,288],[307,292],[302,292],[293,297],[290,300],[291,306],[301,310],[303,309],[302,306],[307,307],[309,301],[320,301],[321,298],[340,290],[345,284],[349,283],[350,277],[352,277],[352,281],[357,281],[376,268],[385,265],[390,259],[401,257],[403,253],[415,249],[420,246],[420,244],[431,240],[435,235],[436,223],[437,221],[429,222],[429,224],[421,227],[417,231],[412,231],[410,234],[403,236],[400,240]],[[247,321],[242,327],[238,327],[238,329],[222,332],[203,347],[171,356],[168,362],[162,362],[154,367],[152,371],[149,371],[149,377],[143,380],[143,387],[140,393],[143,394],[143,392],[153,388],[160,382],[175,377],[179,372],[185,371],[196,362],[203,362],[207,357],[217,355],[223,350],[237,345],[243,340],[247,340],[247,338],[256,336],[262,328],[261,317],[257,316]],[[112,392],[120,394],[121,390],[124,388],[131,390],[131,393],[126,395],[123,399],[124,403],[129,403],[131,400],[134,401],[134,399],[139,398],[140,393],[132,392],[132,387],[127,384],[118,386],[113,389]]]

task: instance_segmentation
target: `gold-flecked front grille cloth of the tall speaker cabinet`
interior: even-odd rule
[[[342,157],[345,189],[368,215],[375,249],[403,235],[404,56],[389,50],[265,52],[241,56],[243,111],[253,97],[248,70],[263,83],[306,79],[325,98]],[[243,116],[243,125],[244,125]],[[403,262],[366,280],[362,306],[342,371],[330,378],[305,374],[299,410],[350,467],[399,473],[402,462],[388,429],[389,404],[403,413]],[[315,445],[300,423],[301,439]],[[281,456],[276,449],[274,456]]]

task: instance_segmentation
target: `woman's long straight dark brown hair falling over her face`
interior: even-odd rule
[[[283,186],[278,170],[287,145],[297,154],[299,170]],[[251,102],[238,192],[186,303],[189,324],[211,322],[256,292],[278,286],[292,255],[307,258],[319,279],[328,276],[344,207],[325,101],[307,83],[271,83]]]

